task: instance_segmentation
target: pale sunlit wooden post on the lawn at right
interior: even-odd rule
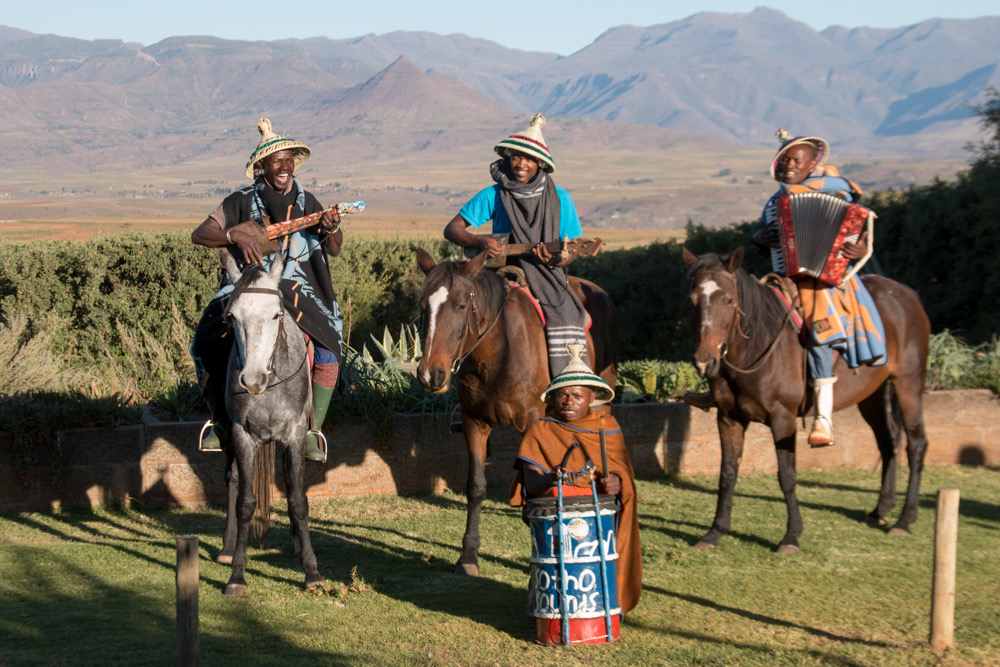
[[[955,562],[958,545],[958,489],[938,490],[934,527],[934,584],[931,596],[931,646],[955,646]]]

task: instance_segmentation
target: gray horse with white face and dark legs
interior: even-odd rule
[[[277,253],[270,271],[254,264],[241,274],[228,251],[221,250],[219,256],[235,285],[225,311],[234,345],[226,380],[226,411],[232,428],[223,439],[229,504],[217,558],[233,565],[224,592],[246,593],[251,520],[256,521],[262,539],[270,526],[275,445],[281,447],[289,522],[295,552],[306,574],[305,587],[316,588],[325,582],[309,541],[304,475],[312,385],[305,337],[295,322],[285,317],[278,290],[284,262]]]

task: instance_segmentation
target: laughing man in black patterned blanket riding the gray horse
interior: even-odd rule
[[[309,159],[309,148],[300,141],[272,132],[271,121],[267,118],[257,121],[257,129],[261,140],[246,163],[246,176],[254,179],[253,185],[244,186],[226,197],[192,232],[191,241],[209,248],[228,247],[240,261],[241,268],[247,264],[262,264],[268,269],[274,254],[264,255],[253,235],[235,227],[247,220],[263,225],[264,216],[268,216],[271,224],[300,218],[323,211],[323,206],[293,175],[295,169]],[[284,307],[309,335],[314,346],[315,430],[309,431],[307,436],[306,459],[323,462],[326,453],[319,446],[320,429],[337,386],[343,330],[327,263],[327,255],[339,255],[344,241],[340,215],[336,208],[326,211],[318,226],[299,230],[281,240],[285,269],[280,289]],[[212,430],[202,430],[201,448],[206,450],[221,449],[219,430],[228,428],[222,396],[233,337],[228,335],[223,309],[232,290],[233,283],[223,271],[220,289],[205,309],[191,345],[199,385],[212,411]]]

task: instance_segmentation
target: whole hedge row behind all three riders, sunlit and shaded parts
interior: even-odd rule
[[[933,199],[943,187],[917,189],[910,197]],[[948,187],[966,186],[960,182]],[[965,239],[969,248],[955,251],[959,261],[945,257],[931,261],[925,255],[937,249],[913,239],[918,232],[904,231],[909,229],[907,216],[925,219],[920,217],[919,206],[898,195],[876,195],[873,203],[879,206],[880,222],[889,229],[880,229],[880,238],[896,234],[906,241],[879,244],[877,257],[883,267],[891,269],[890,275],[901,277],[921,293],[934,329],[950,329],[974,343],[987,341],[1000,330],[1000,272],[993,268],[992,256],[983,252],[996,245],[996,225],[975,232],[978,238],[969,238],[971,223],[963,233],[948,232]],[[933,217],[934,211],[930,214]],[[748,250],[745,267],[763,275],[770,268],[769,261],[753,252],[749,243],[756,224],[724,229],[689,225],[684,245],[695,254],[725,254],[744,245]],[[455,256],[443,240],[355,237],[331,261],[345,327],[355,347],[360,349],[369,334],[380,335],[385,327],[397,331],[415,321],[416,296],[423,282],[415,262],[417,247],[438,259]],[[681,247],[674,241],[653,243],[603,252],[572,265],[574,274],[602,286],[617,305],[622,359],[688,358],[689,284]],[[913,268],[913,263],[919,266]],[[215,254],[192,245],[187,233],[180,231],[130,233],[90,242],[0,244],[0,321],[9,323],[16,313],[27,314],[29,322],[43,314],[56,314],[68,322],[63,338],[55,341],[64,359],[104,362],[108,350],[117,358],[129,354],[123,332],[145,331],[154,339],[170,341],[177,337],[177,317],[193,331],[216,291],[219,275]]]

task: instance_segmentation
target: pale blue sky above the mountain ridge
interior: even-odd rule
[[[80,39],[153,44],[175,35],[333,39],[394,30],[463,33],[504,46],[568,55],[608,28],[668,23],[698,11],[744,13],[763,5],[817,30],[898,28],[928,18],[1000,15],[996,0],[0,0],[0,25]],[[513,8],[513,9],[511,9]]]

